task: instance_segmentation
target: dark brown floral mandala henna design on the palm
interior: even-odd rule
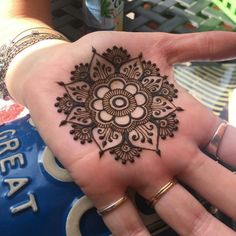
[[[93,49],[89,64],[71,72],[71,82],[58,82],[65,94],[55,106],[66,115],[60,124],[81,144],[95,142],[123,164],[134,162],[142,150],[161,154],[159,138],[173,137],[178,129],[173,100],[178,90],[161,76],[157,66],[131,58],[114,46],[102,55]]]

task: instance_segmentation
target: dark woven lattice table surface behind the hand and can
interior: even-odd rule
[[[71,40],[86,33],[81,0],[52,0],[55,27]],[[236,31],[211,0],[125,0],[124,30],[191,33]]]

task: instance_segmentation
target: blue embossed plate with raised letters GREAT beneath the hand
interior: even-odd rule
[[[0,235],[111,234],[29,115],[0,126],[0,184]],[[135,193],[129,197],[153,235],[176,235],[142,197]]]

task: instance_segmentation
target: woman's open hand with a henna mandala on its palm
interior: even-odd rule
[[[124,196],[129,187],[151,199],[178,178],[236,218],[235,176],[201,152],[220,120],[176,84],[172,71],[176,62],[236,55],[230,44],[216,50],[222,41],[213,36],[221,34],[98,32],[71,44],[44,41],[14,59],[7,85],[97,208]],[[180,184],[155,209],[181,235],[234,235]],[[149,235],[129,200],[104,221],[114,235]]]

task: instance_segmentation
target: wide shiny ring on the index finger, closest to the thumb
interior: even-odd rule
[[[211,141],[209,142],[209,144],[207,145],[207,148],[206,148],[207,152],[209,154],[212,154],[213,156],[215,156],[218,161],[220,159],[218,157],[219,146],[220,146],[220,143],[223,139],[223,136],[224,136],[227,126],[228,126],[227,121],[223,120],[220,123],[220,125],[218,126],[216,132],[214,133]]]

